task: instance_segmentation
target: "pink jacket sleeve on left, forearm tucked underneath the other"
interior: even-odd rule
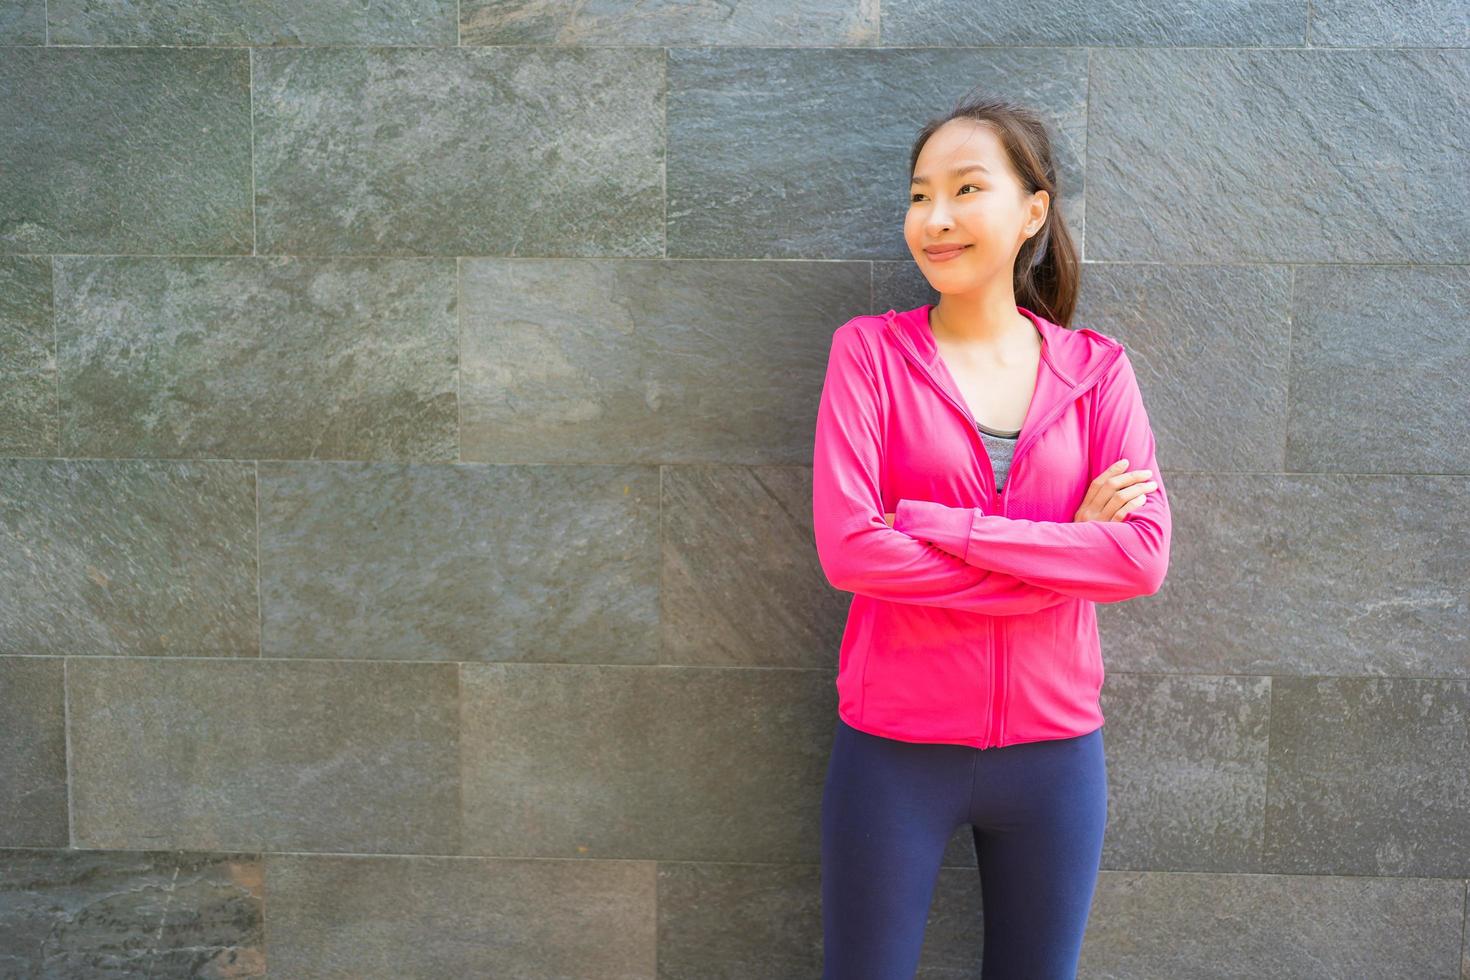
[[[878,372],[856,328],[832,335],[817,407],[811,517],[828,582],[894,602],[1017,616],[1069,602],[1060,592],[978,569],[883,520]]]

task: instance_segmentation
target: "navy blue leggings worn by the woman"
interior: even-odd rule
[[[841,718],[822,793],[822,980],[913,980],[939,862],[970,824],[983,980],[1073,980],[1107,824],[1102,729],[988,749]]]

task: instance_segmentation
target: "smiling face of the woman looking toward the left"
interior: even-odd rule
[[[951,119],[919,151],[913,178],[904,239],[929,285],[972,292],[997,276],[1011,282],[1016,254],[1045,223],[1050,195],[1023,192],[995,132]],[[945,262],[925,251],[948,244],[964,248]]]

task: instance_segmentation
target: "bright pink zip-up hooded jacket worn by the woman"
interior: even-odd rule
[[[811,516],[828,582],[854,594],[838,714],[883,738],[982,749],[1086,735],[1102,724],[1095,604],[1151,595],[1169,567],[1169,494],[1138,379],[1119,341],[1017,307],[1041,364],[997,492],[931,306],[832,335]],[[1120,458],[1152,470],[1147,502],[1073,522]]]

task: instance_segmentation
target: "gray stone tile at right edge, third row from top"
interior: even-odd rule
[[[1470,472],[1470,270],[1295,275],[1286,469]]]

